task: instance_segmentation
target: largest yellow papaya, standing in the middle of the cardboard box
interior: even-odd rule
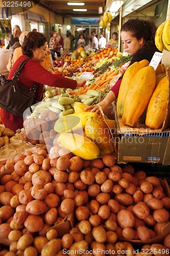
[[[155,90],[156,75],[152,66],[140,69],[128,88],[122,122],[134,127],[150,101]]]

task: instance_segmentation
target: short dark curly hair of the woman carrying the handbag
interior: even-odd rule
[[[33,57],[33,50],[40,48],[46,42],[46,37],[39,32],[30,32],[23,39],[22,54]]]

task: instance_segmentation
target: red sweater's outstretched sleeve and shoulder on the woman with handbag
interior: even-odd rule
[[[22,60],[28,58],[28,56],[22,55],[20,56],[14,63],[8,78],[12,79],[16,69]],[[76,89],[77,81],[73,79],[66,78],[64,76],[59,76],[52,74],[45,70],[39,63],[30,59],[25,67],[23,68],[18,82],[20,82],[23,86],[31,88],[31,86],[35,83],[46,84],[51,87],[60,87],[60,88],[70,88]]]

